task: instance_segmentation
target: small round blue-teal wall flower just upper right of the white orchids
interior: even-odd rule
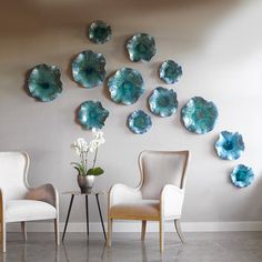
[[[151,129],[152,121],[144,111],[137,110],[129,115],[128,127],[133,133],[143,134]]]

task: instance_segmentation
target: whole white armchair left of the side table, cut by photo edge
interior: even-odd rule
[[[59,245],[59,198],[51,184],[28,185],[29,157],[24,152],[0,152],[0,223],[2,252],[6,252],[6,224],[21,222],[27,240],[26,221],[54,220]]]

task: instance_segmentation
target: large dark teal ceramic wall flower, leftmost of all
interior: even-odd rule
[[[56,66],[36,66],[28,78],[28,90],[42,102],[54,100],[62,92],[61,72]]]

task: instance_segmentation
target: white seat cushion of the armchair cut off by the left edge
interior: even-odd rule
[[[6,206],[6,221],[30,221],[56,219],[56,208],[36,200],[10,200]]]

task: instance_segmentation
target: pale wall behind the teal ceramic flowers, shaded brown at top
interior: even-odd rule
[[[26,150],[31,155],[29,180],[51,182],[60,192],[77,189],[70,162],[77,160],[70,143],[90,132],[74,122],[84,100],[100,100],[110,111],[104,128],[107,143],[99,163],[105,174],[95,187],[108,190],[117,182],[139,182],[138,153],[143,149],[192,151],[183,220],[188,222],[262,220],[262,1],[2,1],[0,9],[0,150]],[[87,27],[102,19],[112,26],[113,38],[95,46]],[[135,32],[154,36],[158,54],[150,63],[132,63],[124,48]],[[80,51],[102,52],[108,74],[120,67],[142,72],[147,92],[132,105],[114,104],[105,89],[79,88],[70,77],[70,60]],[[153,128],[134,135],[125,127],[128,114],[147,109],[152,89],[163,84],[158,67],[165,59],[182,64],[184,75],[175,87],[180,108],[201,95],[219,109],[219,123],[205,135],[189,133],[179,113],[170,119],[152,115]],[[26,72],[39,63],[57,64],[63,92],[50,103],[36,102],[24,91]],[[220,131],[243,134],[246,151],[234,162],[220,160],[213,143]],[[254,183],[239,190],[229,180],[238,163],[251,165]],[[61,195],[61,220],[69,198]],[[84,221],[83,201],[75,200],[71,221]],[[99,221],[92,201],[91,221]],[[105,212],[105,200],[103,201]]]

